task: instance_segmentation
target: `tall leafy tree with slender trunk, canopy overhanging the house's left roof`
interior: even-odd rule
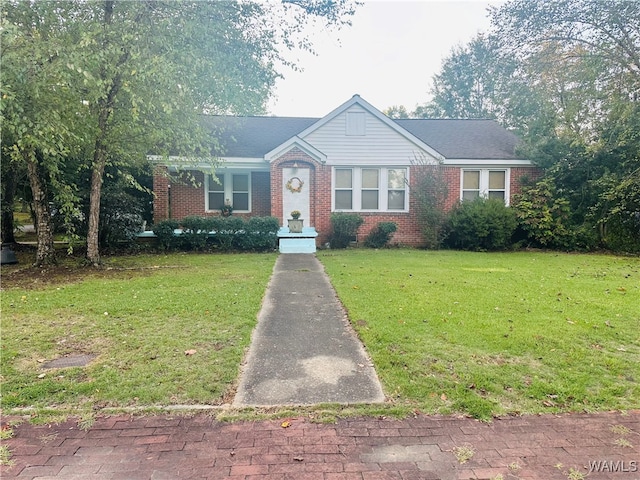
[[[42,19],[51,18],[61,27],[54,63],[74,72],[65,85],[86,106],[77,108],[78,137],[91,172],[87,260],[93,265],[100,263],[108,164],[144,161],[152,148],[211,159],[212,139],[198,115],[263,113],[278,69],[291,65],[282,49],[310,49],[302,32],[306,21],[340,26],[354,6],[350,0],[5,3],[16,30],[39,34]],[[20,21],[25,11],[30,22]],[[45,70],[39,73],[47,78]]]

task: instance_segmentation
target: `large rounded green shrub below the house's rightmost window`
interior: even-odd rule
[[[447,245],[462,250],[506,250],[516,229],[513,210],[502,199],[479,198],[458,204],[449,217]]]

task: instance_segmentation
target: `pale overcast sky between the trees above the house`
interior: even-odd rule
[[[413,110],[429,99],[431,78],[456,45],[489,27],[480,0],[367,0],[353,25],[339,31],[313,29],[317,56],[299,54],[302,72],[285,71],[269,114],[322,117],[359,94],[379,110]]]

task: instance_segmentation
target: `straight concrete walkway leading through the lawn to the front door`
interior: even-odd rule
[[[280,255],[234,406],[383,401],[322,264],[311,254]]]

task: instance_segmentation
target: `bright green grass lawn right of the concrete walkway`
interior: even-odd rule
[[[318,256],[399,405],[478,418],[640,406],[637,257]]]

